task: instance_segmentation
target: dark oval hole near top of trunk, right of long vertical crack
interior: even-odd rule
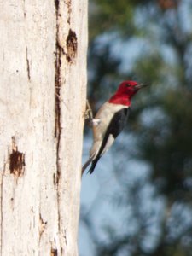
[[[73,32],[73,30],[69,29],[67,40],[67,61],[72,64],[74,63],[76,56],[77,56],[77,51],[78,51],[78,38],[76,36],[76,33]]]

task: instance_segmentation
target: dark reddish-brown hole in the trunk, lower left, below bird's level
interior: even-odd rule
[[[16,178],[25,172],[25,154],[18,151],[15,137],[12,137],[12,153],[10,154],[9,170]]]

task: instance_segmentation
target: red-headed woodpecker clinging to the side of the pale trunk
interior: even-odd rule
[[[97,161],[123,130],[130,113],[131,97],[147,85],[135,81],[122,82],[115,94],[96,113],[95,119],[92,119],[94,141],[90,149],[90,159],[82,167],[82,173],[90,163],[90,174],[94,171]]]

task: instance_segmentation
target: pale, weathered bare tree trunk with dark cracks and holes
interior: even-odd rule
[[[78,255],[87,0],[0,0],[0,250]]]

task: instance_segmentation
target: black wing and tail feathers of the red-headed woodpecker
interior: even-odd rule
[[[106,144],[108,143],[108,137],[110,135],[112,135],[114,139],[118,137],[119,133],[125,127],[129,113],[130,113],[130,108],[122,108],[117,113],[114,114],[113,119],[111,119],[111,122],[108,125],[108,130],[106,131],[105,136],[103,138],[101,148],[99,149],[99,152],[96,155],[96,158],[92,161],[90,170],[88,171],[90,172],[90,174],[94,171],[97,161],[102,156],[102,151],[105,148]]]

